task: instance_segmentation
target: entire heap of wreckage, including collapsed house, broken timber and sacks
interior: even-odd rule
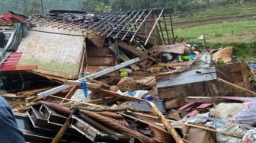
[[[236,62],[232,47],[178,43],[169,13],[50,11],[18,21],[27,32],[15,50],[5,44],[0,86],[25,140],[256,140],[255,64]]]

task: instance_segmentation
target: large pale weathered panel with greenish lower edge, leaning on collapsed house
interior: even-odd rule
[[[79,30],[37,26],[28,31],[18,47],[23,52],[18,65],[37,65],[37,72],[75,79],[84,49],[81,35]]]

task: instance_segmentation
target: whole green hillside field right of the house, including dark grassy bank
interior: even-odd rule
[[[242,21],[242,18],[236,18],[249,14],[255,15],[254,19]],[[222,22],[219,23],[214,18],[219,18],[218,20]],[[174,30],[174,36],[178,36],[178,41],[183,39],[185,43],[197,44],[203,48],[205,47],[203,40],[197,40],[200,35],[203,35],[207,48],[232,46],[238,61],[256,62],[256,3],[202,9],[194,11],[193,14],[186,12],[176,14],[172,19],[174,25],[188,25]],[[207,21],[210,19],[214,20]],[[195,26],[194,21],[200,21],[202,24]]]

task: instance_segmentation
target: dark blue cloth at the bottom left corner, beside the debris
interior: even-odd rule
[[[0,96],[0,142],[21,143],[23,133],[18,129],[11,107],[4,97]]]

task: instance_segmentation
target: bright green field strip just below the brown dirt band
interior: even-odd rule
[[[194,40],[200,35],[206,38],[235,37],[256,34],[256,20],[222,22],[219,24],[206,24],[174,30],[174,34],[184,40]],[[255,36],[255,35],[254,35]]]

